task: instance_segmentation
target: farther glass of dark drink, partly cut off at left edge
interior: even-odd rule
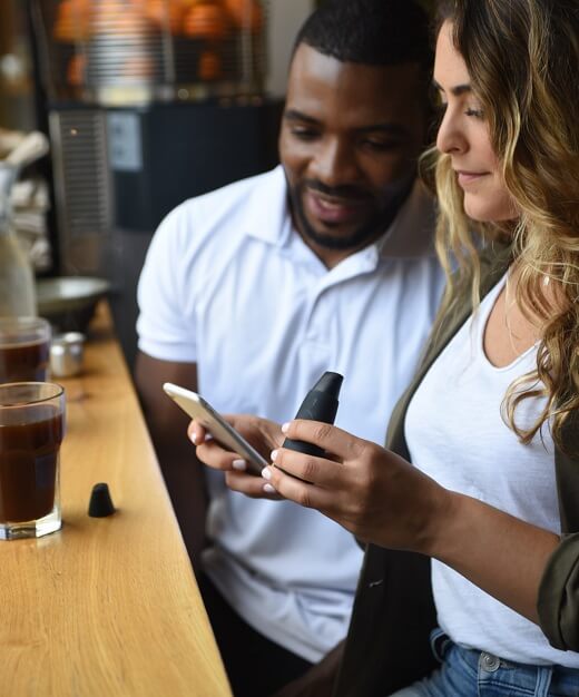
[[[50,323],[42,317],[0,317],[0,384],[47,380]]]

